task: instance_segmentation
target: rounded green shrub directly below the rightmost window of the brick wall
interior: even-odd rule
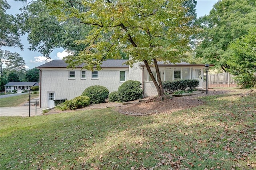
[[[141,99],[143,90],[139,81],[128,80],[119,86],[117,91],[118,100],[128,102]]]

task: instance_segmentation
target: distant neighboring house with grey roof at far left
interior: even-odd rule
[[[5,93],[12,93],[12,90],[23,91],[32,86],[39,86],[38,82],[8,82],[5,86]]]

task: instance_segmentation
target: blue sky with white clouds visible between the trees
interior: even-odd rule
[[[22,2],[16,2],[14,0],[7,0],[7,2],[11,6],[11,9],[7,10],[7,13],[12,15],[20,13],[19,9],[23,8],[26,5]],[[210,10],[212,9],[212,6],[216,2],[218,2],[218,0],[197,0],[197,6],[196,6],[197,17],[208,15]],[[23,51],[20,50],[19,48],[14,48],[14,47],[1,47],[1,49],[8,50],[12,53],[15,53],[15,52],[19,53],[20,56],[25,60],[27,70],[46,63],[46,58],[41,53],[38,53],[37,51],[28,50],[28,47],[30,45],[27,41],[26,35],[21,37],[21,42],[24,45]],[[60,48],[60,49],[55,49],[50,54],[50,57],[52,59],[62,59],[66,55],[68,55],[68,53],[66,53],[66,51]]]

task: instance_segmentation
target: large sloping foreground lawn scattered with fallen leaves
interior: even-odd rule
[[[1,117],[0,169],[256,168],[256,92],[150,116],[110,109]]]

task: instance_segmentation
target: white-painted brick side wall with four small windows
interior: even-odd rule
[[[98,79],[92,79],[92,72],[86,70],[86,80],[80,78],[81,70],[75,70],[75,79],[68,79],[69,70],[67,69],[41,69],[41,107],[47,106],[47,92],[54,92],[54,99],[66,98],[68,100],[80,96],[82,92],[93,85],[105,86],[110,92],[117,91],[122,84],[119,82],[120,71],[128,69],[103,69],[98,71]],[[126,78],[126,80],[128,80]]]

